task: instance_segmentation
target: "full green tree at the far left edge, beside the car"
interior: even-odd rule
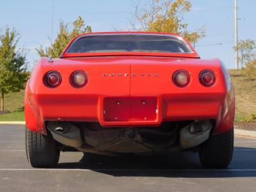
[[[1,111],[4,111],[4,95],[19,92],[25,87],[28,63],[24,49],[17,49],[19,33],[15,29],[6,28],[0,35],[0,42]]]

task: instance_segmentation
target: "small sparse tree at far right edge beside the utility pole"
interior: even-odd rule
[[[254,40],[241,40],[238,42],[237,47],[234,46],[233,49],[239,52],[238,60],[241,61],[241,68],[243,69],[244,64],[250,62],[255,56],[253,50],[255,49],[255,41]]]

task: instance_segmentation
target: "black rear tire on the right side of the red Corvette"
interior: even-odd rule
[[[203,143],[199,151],[200,163],[205,168],[227,168],[233,156],[234,128],[217,134]]]

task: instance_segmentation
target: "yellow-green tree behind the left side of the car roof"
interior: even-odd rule
[[[36,49],[37,53],[41,57],[52,56],[52,58],[58,58],[72,38],[80,35],[81,33],[92,32],[92,28],[90,26],[84,27],[84,20],[80,16],[72,24],[73,29],[69,31],[68,24],[60,22],[60,31],[58,32],[57,38],[54,40],[52,47],[50,46],[44,49],[44,47],[40,45],[40,47]]]

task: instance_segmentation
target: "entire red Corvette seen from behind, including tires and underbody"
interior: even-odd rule
[[[42,58],[26,85],[26,152],[33,167],[60,151],[107,156],[196,150],[225,168],[234,143],[234,86],[220,60],[181,36],[89,33]]]

